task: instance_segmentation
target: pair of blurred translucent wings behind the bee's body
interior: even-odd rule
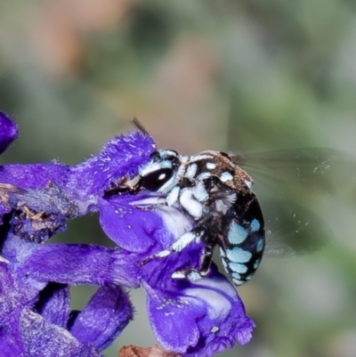
[[[231,158],[255,181],[253,190],[263,208],[268,255],[307,254],[333,239],[326,220],[316,214],[315,203],[320,198],[332,199],[337,193],[354,190],[356,158],[327,148],[278,150]]]

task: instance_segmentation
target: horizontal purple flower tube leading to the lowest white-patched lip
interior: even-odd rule
[[[117,249],[50,244],[38,247],[20,265],[19,274],[62,284],[122,285],[137,288],[138,267],[133,256]]]

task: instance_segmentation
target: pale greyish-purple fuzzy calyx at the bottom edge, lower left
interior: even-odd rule
[[[49,323],[27,308],[20,315],[20,334],[26,356],[100,356],[93,345],[81,344],[67,329]]]

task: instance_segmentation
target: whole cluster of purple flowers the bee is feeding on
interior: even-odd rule
[[[4,115],[0,120],[9,121]],[[0,134],[0,148],[16,136],[9,127]],[[169,249],[194,223],[178,207],[145,209],[164,199],[150,192],[105,195],[120,180],[138,174],[155,150],[149,135],[136,132],[114,138],[77,166],[0,166],[0,338],[8,351],[18,341],[17,355],[60,348],[64,355],[98,355],[132,317],[123,287],[140,286],[147,292],[152,329],[169,351],[210,356],[250,340],[255,324],[214,266],[201,280],[172,278],[182,269],[198,269],[201,244],[142,264]],[[119,248],[39,244],[66,229],[67,220],[93,211],[100,212],[102,229]],[[102,288],[77,313],[69,311],[70,284]]]

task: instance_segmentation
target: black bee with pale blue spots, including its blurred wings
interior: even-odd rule
[[[147,134],[137,120],[134,124]],[[254,182],[241,166],[257,174],[254,191],[259,191],[263,211],[252,191]],[[272,183],[269,180],[273,178],[277,191],[271,190],[270,184],[263,189],[263,175],[266,183]],[[356,159],[336,149],[277,150],[247,156],[206,150],[190,157],[163,149],[151,155],[138,175],[115,183],[105,194],[155,192],[160,200],[142,209],[176,207],[194,223],[172,247],[149,256],[142,264],[203,242],[198,270],[190,268],[172,276],[190,280],[206,276],[214,247],[219,246],[225,271],[241,285],[251,279],[263,253],[294,256],[325,246],[332,234],[328,224],[309,209],[310,201],[354,186]],[[265,196],[268,191],[274,192],[271,199]]]

